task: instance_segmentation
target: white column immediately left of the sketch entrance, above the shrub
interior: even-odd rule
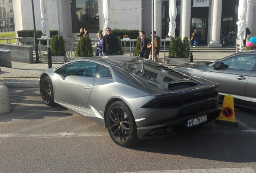
[[[180,37],[183,39],[185,36],[190,38],[190,28],[191,28],[191,0],[182,0],[181,1],[181,18],[182,22],[180,24],[181,35]]]

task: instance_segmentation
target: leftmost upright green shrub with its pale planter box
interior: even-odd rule
[[[63,36],[54,35],[50,40],[52,62],[67,62]]]

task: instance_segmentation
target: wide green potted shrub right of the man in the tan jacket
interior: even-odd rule
[[[183,64],[188,62],[190,55],[190,46],[188,37],[184,37],[183,41],[180,36],[176,39],[170,37],[169,63]]]

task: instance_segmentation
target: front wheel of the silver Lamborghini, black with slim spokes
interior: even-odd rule
[[[43,99],[43,103],[47,106],[54,106],[54,93],[53,93],[53,86],[50,77],[44,77],[41,84],[40,84],[40,93]]]

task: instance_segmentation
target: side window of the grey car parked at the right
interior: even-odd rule
[[[242,55],[223,60],[222,62],[228,65],[228,68],[235,68],[241,70],[251,70],[255,64],[256,56],[254,55]]]

